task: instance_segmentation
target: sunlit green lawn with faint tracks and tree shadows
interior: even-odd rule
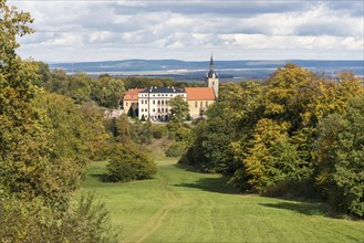
[[[84,188],[106,202],[126,242],[363,242],[363,221],[334,219],[323,204],[242,196],[227,178],[158,162],[156,179],[103,183],[93,162]]]

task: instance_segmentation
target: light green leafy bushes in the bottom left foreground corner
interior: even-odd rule
[[[110,213],[94,194],[82,194],[64,212],[44,207],[41,200],[0,200],[2,242],[116,242]]]

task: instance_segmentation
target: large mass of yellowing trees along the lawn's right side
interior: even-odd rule
[[[266,196],[320,198],[364,215],[364,87],[293,64],[264,83],[227,83],[179,162]]]

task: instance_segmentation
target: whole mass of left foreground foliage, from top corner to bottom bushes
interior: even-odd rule
[[[108,241],[103,207],[87,199],[70,208],[87,161],[86,135],[96,135],[97,124],[70,99],[37,87],[48,78],[37,74],[46,66],[15,54],[17,35],[32,32],[30,14],[0,0],[0,239]],[[81,99],[83,93],[74,95]]]

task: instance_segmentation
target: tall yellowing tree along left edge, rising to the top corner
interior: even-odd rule
[[[21,198],[48,197],[51,130],[44,110],[33,105],[40,94],[32,84],[37,65],[15,54],[15,36],[33,32],[28,27],[32,19],[3,0],[0,13],[0,187]]]

